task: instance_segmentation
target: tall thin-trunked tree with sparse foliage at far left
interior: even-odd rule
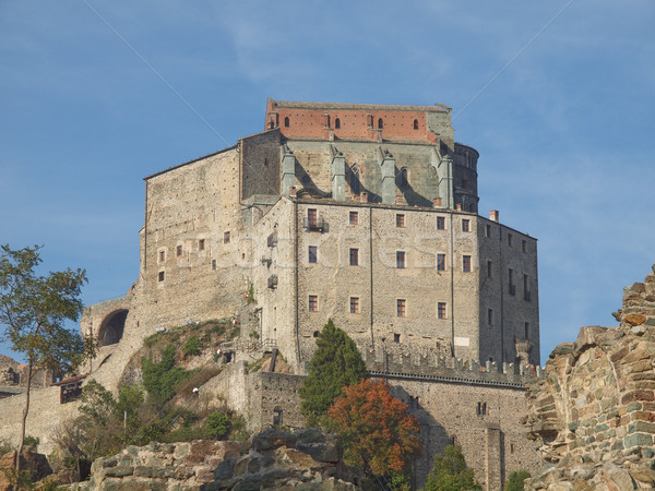
[[[1,338],[23,356],[27,364],[25,406],[17,455],[25,442],[29,414],[32,378],[39,370],[67,373],[87,356],[93,344],[84,343],[80,334],[66,328],[67,320],[76,321],[82,313],[80,292],[86,283],[84,270],[68,268],[37,276],[41,262],[40,247],[12,250],[2,246],[0,253],[0,325]],[[21,459],[16,458],[20,472]]]

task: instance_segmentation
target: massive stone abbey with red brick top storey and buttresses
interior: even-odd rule
[[[301,426],[295,391],[332,319],[419,419],[417,482],[455,442],[500,489],[539,464],[519,422],[540,361],[537,241],[478,215],[478,157],[440,104],[269,99],[263,132],[145,178],[139,277],[82,319],[93,376],[116,388],[157,328],[234,318],[294,373],[249,374],[236,340],[207,385],[252,428]]]

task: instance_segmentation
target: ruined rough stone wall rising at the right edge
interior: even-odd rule
[[[529,438],[549,467],[526,489],[655,486],[655,266],[626,288],[618,327],[586,326],[528,384]]]

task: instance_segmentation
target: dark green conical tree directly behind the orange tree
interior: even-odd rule
[[[327,412],[343,387],[355,385],[366,376],[366,364],[357,346],[332,320],[317,338],[317,351],[309,362],[309,375],[298,390],[300,410],[310,426]]]

